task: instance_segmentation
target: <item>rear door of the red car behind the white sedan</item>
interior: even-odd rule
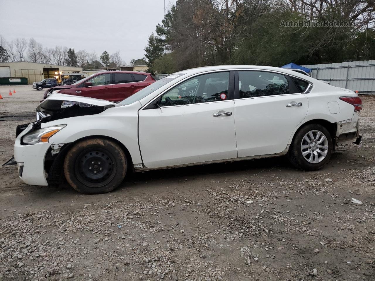
[[[138,83],[130,73],[113,73],[114,84],[111,90],[113,101],[120,102],[138,91]]]

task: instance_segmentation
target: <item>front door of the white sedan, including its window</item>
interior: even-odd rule
[[[215,87],[211,87],[216,82]],[[160,168],[237,157],[234,72],[196,76],[176,85],[139,114],[145,167]]]

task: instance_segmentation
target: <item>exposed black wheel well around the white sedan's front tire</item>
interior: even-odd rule
[[[123,149],[123,151],[124,151],[124,153],[127,157],[127,163],[128,163],[127,172],[133,172],[132,157],[130,155],[129,150],[127,150],[126,146],[123,143],[121,143],[121,142],[117,141],[117,139],[111,138],[109,136],[93,135],[93,136],[87,136],[87,137],[84,137],[84,138],[81,138],[81,139],[77,139],[74,142],[67,143],[66,145],[64,145],[63,149],[52,160],[52,163],[51,163],[52,157],[46,157],[45,158],[45,161],[44,161],[45,162],[45,169],[46,169],[46,172],[48,172],[47,182],[48,182],[49,185],[58,185],[62,182],[63,179],[65,179],[65,176],[64,176],[64,173],[63,173],[63,164],[64,164],[65,156],[66,156],[67,152],[69,151],[69,149],[75,143],[77,143],[79,141],[83,141],[83,140],[86,140],[86,139],[92,139],[92,138],[108,139],[108,140],[111,140],[111,141],[117,143]],[[48,152],[50,152],[50,150]],[[49,155],[51,155],[51,154],[49,154]],[[48,161],[49,161],[49,163],[48,163]]]

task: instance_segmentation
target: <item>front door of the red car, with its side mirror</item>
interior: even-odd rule
[[[111,73],[103,73],[96,75],[86,82],[91,82],[92,86],[80,88],[80,95],[83,97],[93,97],[95,99],[111,100],[114,101],[111,97]]]

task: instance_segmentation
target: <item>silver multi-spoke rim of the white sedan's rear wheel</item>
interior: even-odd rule
[[[301,142],[302,155],[309,163],[319,163],[326,158],[329,149],[327,137],[319,130],[306,133]]]

